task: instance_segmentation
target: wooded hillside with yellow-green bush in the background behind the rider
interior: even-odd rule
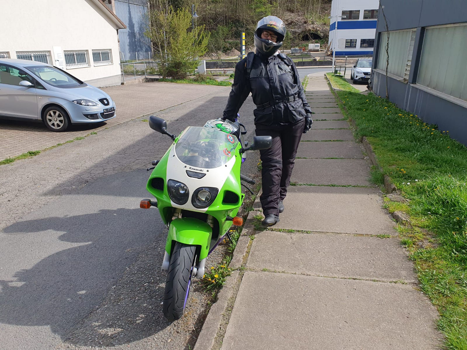
[[[192,19],[192,5],[198,17]],[[198,58],[236,56],[241,33],[253,49],[256,23],[264,16],[281,18],[287,28],[283,48],[327,46],[331,0],[149,0],[149,29],[161,75],[183,78]]]

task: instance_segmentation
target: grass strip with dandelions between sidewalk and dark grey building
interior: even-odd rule
[[[356,136],[367,138],[382,174],[408,199],[386,199],[385,207],[410,216],[397,230],[423,292],[439,310],[446,347],[467,349],[467,148],[451,139],[448,130],[328,77],[342,90],[336,93],[344,115],[356,123]],[[334,85],[336,79],[339,85]]]

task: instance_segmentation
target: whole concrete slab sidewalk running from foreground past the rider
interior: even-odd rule
[[[309,77],[306,96],[315,122],[298,148],[281,221],[255,231],[261,213],[250,212],[230,264],[239,271],[195,350],[439,349],[437,310],[419,291],[323,76]]]

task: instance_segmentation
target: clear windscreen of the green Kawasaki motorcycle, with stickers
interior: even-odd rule
[[[189,126],[177,141],[175,154],[186,165],[212,169],[235,157],[237,145],[235,135],[207,127]]]

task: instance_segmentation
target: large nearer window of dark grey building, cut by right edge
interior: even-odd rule
[[[467,23],[426,28],[417,84],[467,101],[466,36]]]

